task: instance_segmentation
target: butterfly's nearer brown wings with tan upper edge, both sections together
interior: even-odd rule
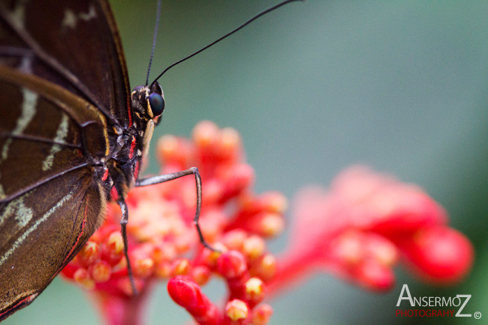
[[[81,97],[0,65],[0,319],[30,303],[96,229],[105,117]],[[86,143],[88,142],[88,143]]]

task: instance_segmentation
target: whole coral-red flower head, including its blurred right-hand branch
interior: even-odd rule
[[[473,262],[464,235],[448,228],[443,209],[418,187],[365,168],[337,177],[330,191],[307,189],[293,212],[289,248],[280,259],[265,239],[284,228],[286,199],[256,195],[254,171],[243,162],[234,129],[211,122],[195,127],[192,141],[165,136],[158,143],[161,173],[197,166],[204,189],[195,226],[195,179],[133,189],[127,198],[129,255],[139,290],[132,294],[118,206],[65,269],[63,275],[91,292],[107,324],[140,324],[152,284],[169,280],[171,298],[199,324],[266,324],[273,310],[261,303],[313,271],[331,271],[372,290],[394,285],[399,257],[430,281],[459,280]],[[224,306],[201,292],[211,276],[227,284]],[[269,296],[269,295],[268,295]]]

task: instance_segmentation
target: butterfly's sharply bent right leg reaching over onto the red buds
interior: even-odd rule
[[[153,177],[146,177],[135,182],[136,187],[145,187],[147,185],[154,185],[160,184],[162,182],[167,182],[169,180],[176,180],[176,178],[180,178],[187,175],[195,175],[195,184],[197,185],[197,210],[195,211],[195,218],[193,219],[193,223],[195,224],[195,228],[197,228],[198,237],[202,245],[206,248],[210,249],[211,251],[218,251],[217,249],[210,246],[204,238],[204,234],[201,232],[200,224],[199,224],[199,217],[201,211],[201,177],[197,167],[188,168],[185,171],[178,171],[177,173],[170,173],[165,175],[153,176]]]

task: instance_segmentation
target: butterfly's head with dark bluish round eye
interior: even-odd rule
[[[165,95],[158,82],[151,86],[137,86],[130,93],[130,100],[132,114],[146,122],[153,120],[154,124],[158,125],[165,110]]]

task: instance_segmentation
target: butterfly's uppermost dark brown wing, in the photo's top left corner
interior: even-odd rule
[[[0,0],[0,63],[22,68],[128,122],[130,88],[119,32],[105,0]]]

